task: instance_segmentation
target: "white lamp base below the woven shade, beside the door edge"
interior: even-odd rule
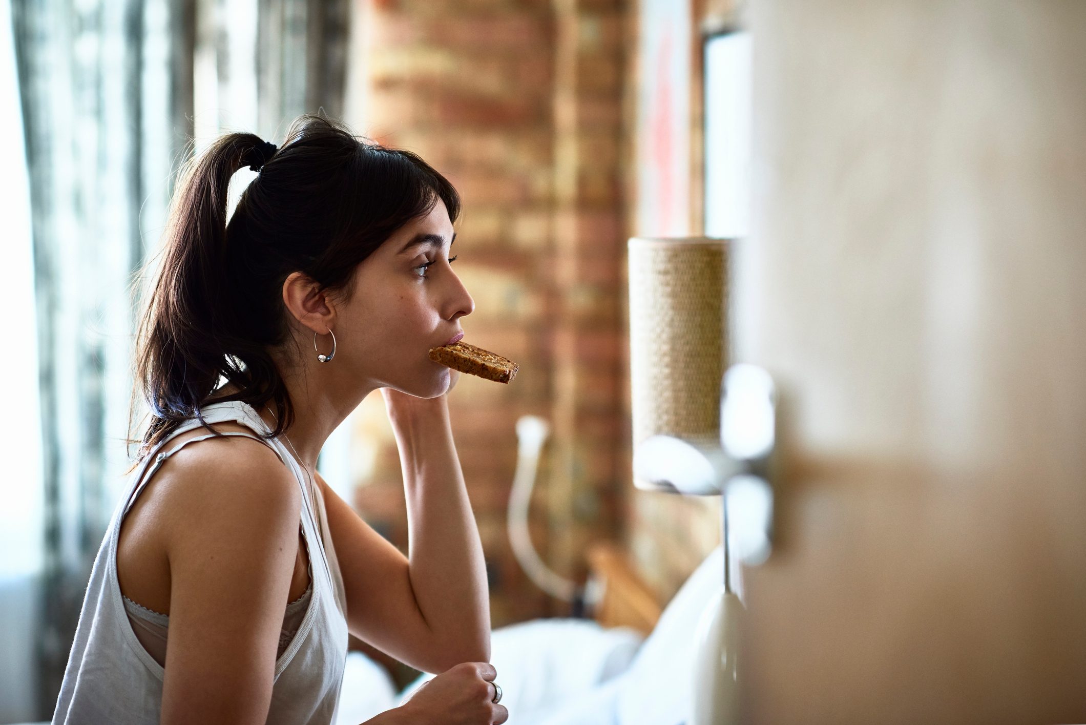
[[[738,723],[736,653],[745,609],[723,585],[697,625],[694,657],[694,718],[691,725]]]

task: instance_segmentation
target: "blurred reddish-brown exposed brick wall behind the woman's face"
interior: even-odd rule
[[[348,121],[420,153],[462,192],[456,265],[476,300],[466,339],[520,363],[512,385],[464,376],[450,399],[493,626],[570,611],[528,579],[508,542],[514,426],[523,414],[552,426],[531,511],[540,555],[580,583],[584,547],[621,540],[666,602],[719,543],[720,499],[631,483],[626,240],[635,198],[636,3],[358,2],[365,41],[355,62],[366,68],[366,102],[363,117]],[[731,8],[693,2],[697,18]],[[698,72],[692,58],[696,153]],[[697,159],[692,173],[699,190]],[[700,213],[694,200],[692,234]],[[399,457],[380,396],[353,421],[355,504],[406,553]]]

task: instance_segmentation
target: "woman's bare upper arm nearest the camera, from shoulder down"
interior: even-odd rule
[[[161,722],[260,725],[298,554],[301,491],[275,453],[244,439],[201,441],[167,465],[179,467],[162,490],[176,513],[164,522],[171,596]]]

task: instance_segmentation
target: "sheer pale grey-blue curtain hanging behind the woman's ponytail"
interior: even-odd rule
[[[18,446],[5,458],[21,479],[5,486],[25,487],[4,493],[14,505],[0,552],[0,622],[22,633],[4,637],[15,645],[0,664],[0,722],[11,722],[52,713],[135,452],[124,443],[134,273],[156,251],[174,174],[218,133],[278,142],[298,113],[339,114],[349,23],[345,0],[3,1],[10,50],[0,62],[17,80],[2,99],[16,113],[3,123],[22,122],[8,138],[25,150],[13,178],[17,187],[23,174],[29,222],[12,238],[34,299],[9,305],[25,329],[4,355],[18,358],[8,379],[26,405],[8,409],[5,428],[17,415],[25,440],[4,436]],[[17,193],[5,196],[18,207]],[[144,412],[137,401],[137,424]]]

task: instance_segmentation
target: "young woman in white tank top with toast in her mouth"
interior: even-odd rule
[[[242,166],[260,173],[228,222]],[[282,148],[229,134],[191,163],[137,339],[152,417],[54,723],[329,723],[348,633],[442,673],[370,723],[506,721],[449,424],[458,374],[427,355],[475,308],[451,266],[458,214],[420,158],[319,116]],[[316,472],[375,389],[403,464],[409,559]]]

